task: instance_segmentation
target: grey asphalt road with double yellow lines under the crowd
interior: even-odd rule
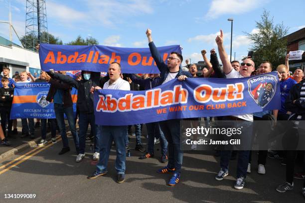
[[[132,137],[131,146],[134,146]],[[146,139],[143,139],[146,143]],[[230,162],[229,176],[216,181],[219,158],[213,152],[185,152],[180,182],[167,187],[170,175],[157,174],[163,167],[155,158],[140,160],[140,152],[132,150],[127,157],[126,181],[116,183],[115,148],[109,159],[108,174],[94,180],[87,176],[95,171],[89,152],[81,163],[70,137],[71,151],[58,155],[62,142],[39,149],[30,148],[0,164],[0,203],[300,203],[303,180],[295,180],[295,190],[280,194],[275,188],[285,181],[285,166],[279,160],[268,159],[266,175],[257,174],[257,155],[253,153],[252,173],[243,190],[235,190],[236,161]],[[159,148],[159,146],[155,146]],[[24,156],[25,154],[25,156]],[[32,156],[33,155],[33,156]],[[21,157],[20,157],[21,156]],[[18,159],[14,162],[11,160]],[[6,165],[5,165],[6,164]],[[35,194],[35,199],[5,199],[5,194]]]

